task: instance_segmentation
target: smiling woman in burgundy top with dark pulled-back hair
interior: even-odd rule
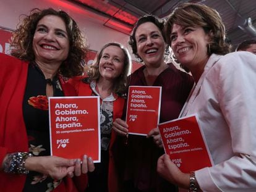
[[[146,15],[136,23],[129,44],[145,65],[130,75],[129,85],[161,86],[160,122],[166,122],[178,117],[194,81],[189,74],[164,62],[166,43],[162,30],[163,22],[153,15]],[[153,131],[147,137],[127,136],[129,127],[121,119],[116,119],[113,129],[119,137],[127,138],[127,142],[120,142],[124,146],[124,163],[120,168],[123,178],[121,191],[176,190],[156,173],[156,162],[164,151],[154,143]]]

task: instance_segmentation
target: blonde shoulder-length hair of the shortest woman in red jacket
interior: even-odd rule
[[[100,52],[98,52],[95,62],[93,62],[92,65],[89,65],[88,70],[87,70],[87,75],[90,81],[95,80],[98,81],[100,79],[100,70],[99,70],[99,64],[100,64],[100,59],[102,57],[104,49],[108,48],[109,46],[117,46],[124,52],[124,69],[122,70],[121,75],[116,78],[114,81],[114,88],[113,92],[117,94],[118,96],[124,96],[127,91],[127,76],[130,74],[130,69],[131,69],[131,59],[130,59],[130,54],[127,51],[124,46],[120,43],[108,43],[101,48]]]

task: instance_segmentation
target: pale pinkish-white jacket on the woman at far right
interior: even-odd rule
[[[215,164],[195,171],[200,188],[256,191],[256,56],[212,54],[180,116],[195,113]]]

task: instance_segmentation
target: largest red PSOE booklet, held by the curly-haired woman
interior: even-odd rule
[[[50,97],[51,155],[100,162],[100,98]]]

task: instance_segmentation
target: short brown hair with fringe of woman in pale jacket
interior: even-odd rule
[[[215,9],[195,3],[183,3],[176,7],[164,25],[164,36],[169,45],[171,45],[170,35],[174,23],[184,27],[202,27],[211,37],[208,46],[209,56],[212,53],[224,55],[230,52],[231,45],[226,42],[224,24]]]

